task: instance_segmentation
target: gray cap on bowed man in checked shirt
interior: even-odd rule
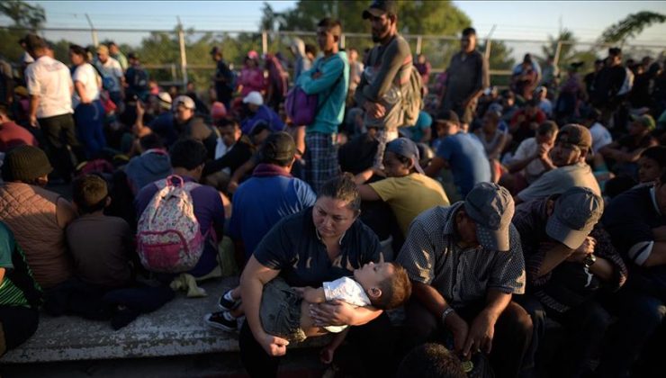
[[[479,244],[490,250],[509,250],[509,226],[514,210],[511,193],[498,184],[475,184],[464,200],[464,211],[476,223]]]

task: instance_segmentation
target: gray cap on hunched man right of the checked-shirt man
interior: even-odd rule
[[[603,212],[604,201],[599,195],[590,188],[574,186],[557,198],[545,232],[563,245],[576,249],[590,235]]]

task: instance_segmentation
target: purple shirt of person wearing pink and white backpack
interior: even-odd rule
[[[184,182],[193,182],[192,177],[183,176]],[[148,203],[153,199],[157,193],[157,185],[155,183],[148,184],[143,187],[137,194],[134,200],[135,208],[137,209],[137,217],[140,218],[141,214]],[[194,268],[187,272],[193,276],[207,275],[217,265],[217,243],[215,243],[215,230],[213,225],[222,226],[224,224],[224,206],[220,193],[211,186],[201,185],[194,188],[191,192],[192,201],[194,206],[194,216],[199,221],[201,232],[203,235],[208,233],[206,244],[203,248],[202,257]]]

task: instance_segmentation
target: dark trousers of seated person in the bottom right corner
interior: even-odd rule
[[[600,377],[628,377],[645,344],[662,326],[666,304],[631,287],[623,288],[610,301],[619,320],[596,372]]]

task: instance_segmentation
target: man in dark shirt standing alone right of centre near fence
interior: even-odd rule
[[[483,89],[490,86],[488,61],[476,50],[476,31],[466,28],[460,38],[460,51],[446,70],[440,112],[454,111],[461,123],[470,124]]]

